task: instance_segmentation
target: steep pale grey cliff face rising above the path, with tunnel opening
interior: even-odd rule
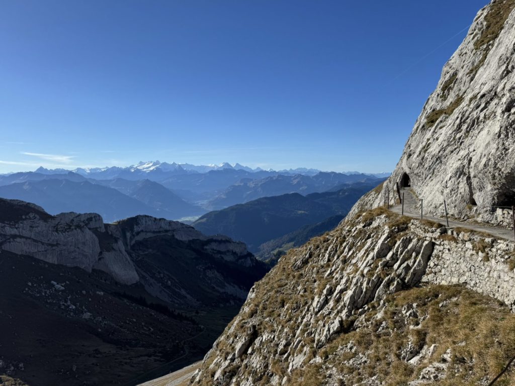
[[[496,206],[515,204],[514,8],[514,0],[494,0],[478,12],[392,176],[352,215],[382,204],[387,188],[409,181],[430,213],[442,215],[445,199],[455,217],[506,222]]]

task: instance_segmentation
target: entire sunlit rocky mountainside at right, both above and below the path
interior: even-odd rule
[[[482,341],[467,348],[470,355],[460,347],[482,334],[467,319],[501,308],[503,317],[490,322],[513,318],[514,243],[377,207],[387,189],[393,201],[399,183],[423,199],[426,213],[443,215],[445,199],[452,216],[507,225],[509,211],[492,207],[515,202],[514,9],[515,0],[494,0],[479,11],[392,176],[252,288],[192,385],[416,386],[458,373],[449,384],[488,384],[499,373],[471,370]],[[447,317],[447,330],[426,340]],[[449,344],[445,331],[459,318],[461,335]]]

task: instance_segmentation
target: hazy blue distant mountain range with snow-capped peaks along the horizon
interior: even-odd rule
[[[371,174],[316,169],[252,169],[140,162],[129,167],[54,169],[0,176],[0,197],[35,202],[50,214],[99,213],[112,222],[136,215],[193,221],[209,210],[289,193],[302,195],[373,183]],[[375,184],[377,185],[377,184]]]

